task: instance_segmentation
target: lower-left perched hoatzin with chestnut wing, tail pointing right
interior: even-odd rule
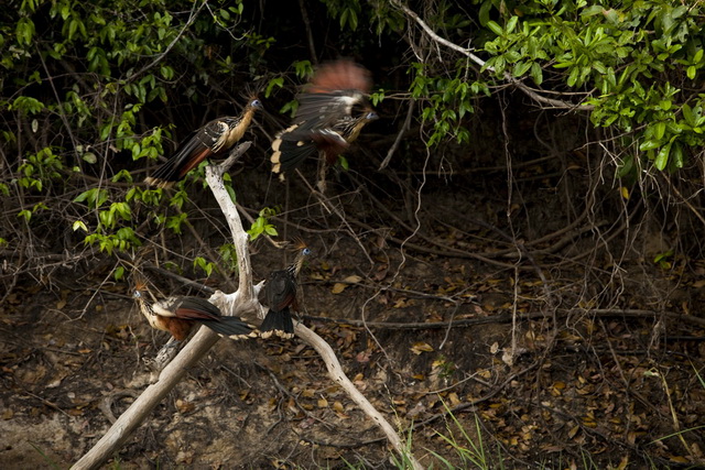
[[[224,316],[218,307],[204,298],[169,297],[150,304],[144,298],[147,293],[142,284],[138,284],[133,293],[142,315],[152,328],[169,331],[177,341],[185,340],[195,324],[205,325],[218,335],[235,340],[257,336],[252,326],[238,317]]]

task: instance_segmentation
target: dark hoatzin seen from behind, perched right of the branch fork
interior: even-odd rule
[[[300,250],[294,262],[285,270],[273,271],[267,276],[264,287],[260,291],[259,299],[269,307],[264,321],[260,325],[260,336],[264,339],[272,335],[280,338],[293,338],[294,323],[291,310],[299,310],[296,303],[296,277],[304,264],[304,259],[311,250],[303,243],[297,243]]]

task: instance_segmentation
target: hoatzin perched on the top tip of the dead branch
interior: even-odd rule
[[[251,99],[240,116],[214,119],[199,130],[192,132],[162,166],[144,178],[144,183],[169,188],[205,159],[225,154],[242,139],[258,109],[262,109],[262,103],[258,99]]]

